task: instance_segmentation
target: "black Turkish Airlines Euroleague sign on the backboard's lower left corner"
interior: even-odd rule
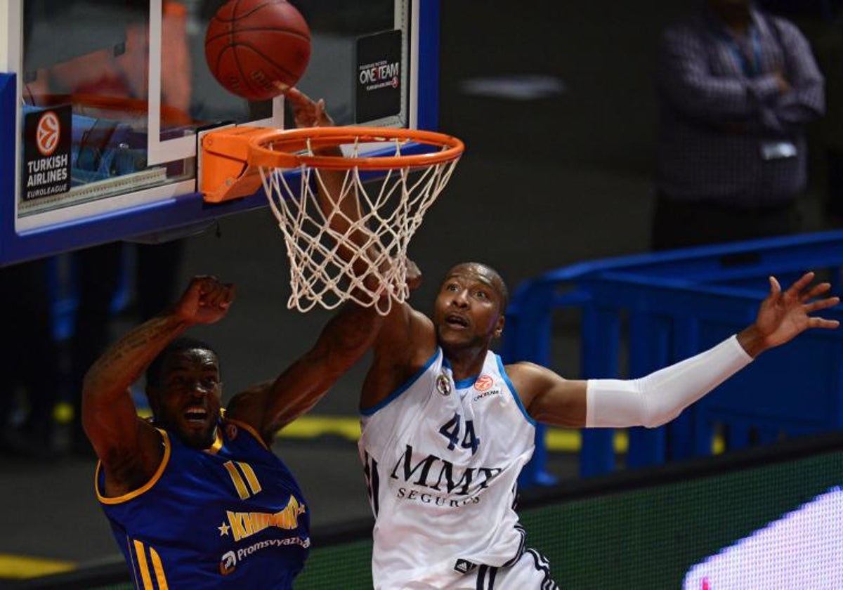
[[[24,201],[70,190],[71,121],[70,105],[24,115]]]

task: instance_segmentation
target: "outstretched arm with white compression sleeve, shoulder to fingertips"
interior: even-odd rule
[[[771,276],[770,294],[761,303],[754,324],[695,357],[646,377],[569,381],[545,367],[519,363],[511,370],[513,382],[524,392],[530,416],[538,421],[575,427],[661,426],[761,352],[791,341],[808,328],[837,328],[837,320],[811,315],[840,303],[837,297],[816,299],[828,292],[830,285],[824,282],[808,287],[812,281],[813,272],[809,272],[782,292]]]

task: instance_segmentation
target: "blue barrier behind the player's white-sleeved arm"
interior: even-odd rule
[[[524,282],[507,309],[506,362],[550,366],[552,315],[582,315],[579,378],[636,378],[690,357],[754,320],[775,275],[782,286],[804,271],[823,273],[841,292],[843,232],[803,234],[634,255],[567,266]],[[843,319],[838,310],[824,315]],[[628,351],[622,373],[622,351]],[[729,448],[843,428],[843,332],[814,330],[770,351],[668,426],[631,428],[628,467],[711,452],[715,426]],[[568,376],[571,377],[571,376]],[[613,434],[583,431],[580,473],[615,470]],[[544,430],[522,484],[545,475]]]

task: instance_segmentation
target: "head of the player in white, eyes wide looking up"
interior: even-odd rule
[[[503,328],[502,280],[475,263],[454,266],[439,288],[433,322],[448,346],[489,346]]]

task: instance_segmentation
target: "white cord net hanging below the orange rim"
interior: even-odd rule
[[[395,139],[388,143],[394,149],[388,155],[400,156],[404,142]],[[357,142],[347,148],[347,157],[358,156]],[[314,155],[310,142],[306,153]],[[378,174],[385,176],[374,180],[367,170],[303,165],[300,183],[288,181],[284,169],[261,167],[266,196],[287,244],[292,287],[287,308],[306,312],[318,303],[333,309],[352,300],[364,307],[375,306],[385,315],[394,301],[403,303],[409,294],[407,245],[458,161],[382,170]],[[331,190],[327,174],[341,177],[341,185],[334,183]],[[327,213],[319,207],[319,190],[330,196]],[[352,241],[355,232],[357,243]],[[357,245],[361,235],[365,236],[364,246]],[[338,253],[344,247],[346,255],[341,257]],[[389,297],[384,297],[385,292]]]

